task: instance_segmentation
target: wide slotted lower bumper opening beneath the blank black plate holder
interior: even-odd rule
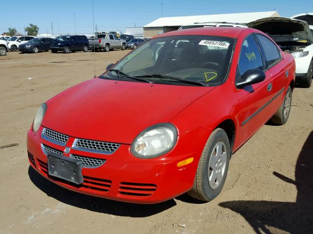
[[[43,162],[42,160],[38,160],[38,165],[40,170],[45,174],[45,176],[49,176],[48,175],[48,164]],[[66,183],[74,188],[80,189],[80,188],[84,188],[87,190],[93,190],[96,192],[108,192],[111,188],[112,185],[112,181],[108,180],[108,179],[99,179],[99,178],[94,178],[94,177],[90,177],[90,176],[83,176],[84,177],[84,182],[81,185],[77,185],[74,184],[72,182],[69,182],[67,180],[58,178],[58,177],[51,177],[53,178],[55,181],[61,182],[61,183]]]

